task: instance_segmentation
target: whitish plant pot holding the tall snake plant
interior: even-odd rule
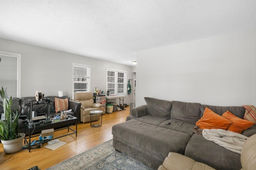
[[[6,154],[14,154],[18,152],[23,147],[23,139],[25,138],[25,133],[20,133],[21,137],[18,139],[13,139],[9,141],[2,141],[4,145],[4,153]]]

